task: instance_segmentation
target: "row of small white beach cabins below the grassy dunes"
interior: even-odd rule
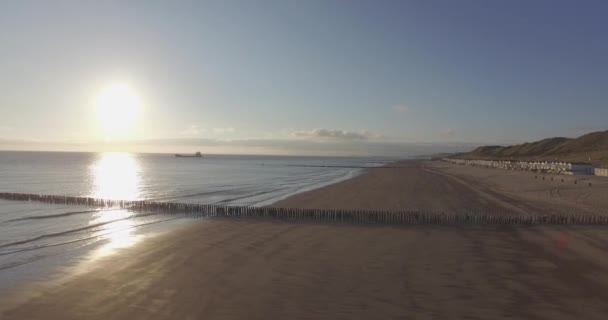
[[[549,162],[549,161],[509,161],[509,160],[466,160],[443,158],[455,164],[498,168],[507,170],[534,171],[568,175],[596,175],[608,177],[608,168],[595,168],[590,163],[581,162]]]

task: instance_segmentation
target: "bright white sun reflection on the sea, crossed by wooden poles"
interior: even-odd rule
[[[91,196],[113,200],[135,200],[140,197],[140,166],[129,153],[102,153],[91,165],[93,182]],[[134,212],[126,209],[96,212],[89,225],[99,225],[94,231],[107,241],[96,253],[101,257],[136,242],[133,234]]]

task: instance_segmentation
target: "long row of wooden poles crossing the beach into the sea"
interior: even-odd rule
[[[252,217],[298,221],[326,221],[390,225],[603,225],[606,215],[576,213],[444,213],[421,211],[298,209],[250,206],[224,206],[157,201],[108,200],[88,197],[0,193],[0,199],[39,201],[63,205],[83,205],[98,208],[125,208],[138,212],[177,214],[192,218]]]

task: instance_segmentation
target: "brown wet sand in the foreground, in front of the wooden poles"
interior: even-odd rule
[[[213,220],[99,261],[2,319],[604,319],[602,228]]]

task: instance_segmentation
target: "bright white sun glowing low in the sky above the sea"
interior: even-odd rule
[[[127,84],[112,84],[95,99],[97,120],[106,138],[127,138],[135,129],[141,102]]]

